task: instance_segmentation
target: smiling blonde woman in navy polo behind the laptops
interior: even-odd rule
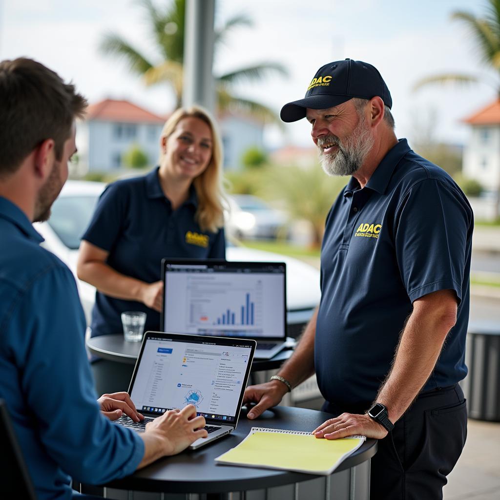
[[[221,169],[213,119],[180,108],[163,127],[159,166],[106,187],[77,265],[97,288],[91,336],[121,332],[125,310],[146,312],[145,330],[160,327],[162,257],[225,258]]]

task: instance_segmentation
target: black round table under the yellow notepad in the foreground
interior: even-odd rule
[[[236,446],[250,431],[252,426],[290,430],[313,430],[331,414],[304,408],[276,406],[267,410],[256,420],[248,420],[241,414],[232,434],[194,451],[162,458],[151,465],[122,479],[111,481],[106,487],[135,491],[156,491],[165,493],[208,493],[209,498],[227,498],[231,491],[270,488],[290,483],[299,483],[320,476],[272,470],[264,468],[221,465],[214,458]],[[346,458],[333,472],[338,474],[365,464],[376,452],[376,439],[367,439],[351,456]],[[364,474],[358,473],[362,482],[358,489],[368,492],[369,462]],[[353,475],[353,474],[352,474]],[[368,498],[357,491],[354,496],[355,481],[350,481],[349,491],[335,491],[335,498]],[[338,496],[337,496],[338,495]]]

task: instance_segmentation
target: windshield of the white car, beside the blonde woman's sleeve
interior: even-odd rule
[[[80,238],[90,222],[98,196],[59,196],[52,205],[48,224],[71,250],[80,245]]]

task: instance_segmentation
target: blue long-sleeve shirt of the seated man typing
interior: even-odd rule
[[[70,476],[103,483],[130,474],[144,444],[100,414],[74,277],[41,241],[0,196],[0,397],[38,498],[70,498]]]

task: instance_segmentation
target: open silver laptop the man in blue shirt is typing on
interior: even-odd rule
[[[128,388],[144,420],[122,416],[117,423],[143,432],[145,424],[173,408],[193,404],[206,421],[208,437],[196,449],[236,428],[250,374],[255,341],[146,331]]]

